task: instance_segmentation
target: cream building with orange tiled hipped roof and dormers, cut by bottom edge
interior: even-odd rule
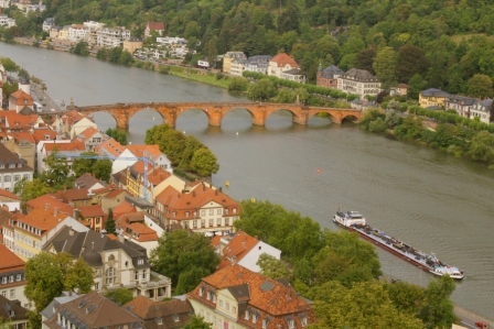
[[[215,329],[299,329],[315,322],[311,303],[287,281],[240,265],[204,277],[187,298]]]

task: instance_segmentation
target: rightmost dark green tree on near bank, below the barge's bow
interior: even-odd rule
[[[430,282],[426,289],[425,303],[418,314],[426,328],[451,328],[457,319],[454,304],[450,299],[453,292],[454,282],[448,275]]]

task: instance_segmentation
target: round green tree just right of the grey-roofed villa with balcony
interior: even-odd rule
[[[213,273],[219,264],[219,256],[204,234],[175,230],[164,232],[158,239],[158,246],[151,251],[150,262],[153,271],[165,274],[176,284],[181,273],[194,267],[205,268],[204,276]],[[201,279],[195,282],[195,285],[200,282]]]

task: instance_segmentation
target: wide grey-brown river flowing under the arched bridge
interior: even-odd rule
[[[0,43],[0,56],[42,78],[47,94],[65,103],[71,97],[78,106],[246,100],[178,77],[31,46]],[[129,139],[142,142],[146,129],[160,123],[158,118],[153,111],[136,114]],[[95,119],[101,129],[115,127],[109,114]],[[229,180],[226,193],[232,197],[282,204],[331,230],[339,229],[331,221],[339,207],[359,210],[372,226],[462,268],[465,278],[458,283],[453,301],[494,319],[494,171],[352,123],[312,118],[308,125],[293,124],[283,111],[273,113],[266,127],[255,127],[247,111],[234,110],[222,128],[208,127],[204,113],[189,111],[176,129],[217,155],[221,169],[213,184]],[[377,251],[384,274],[422,286],[432,278]]]

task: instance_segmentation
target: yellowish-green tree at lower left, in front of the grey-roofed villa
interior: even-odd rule
[[[74,263],[75,264],[75,263]],[[88,292],[93,281],[93,270],[84,261],[74,268],[72,255],[63,252],[51,254],[41,252],[25,263],[25,297],[34,304],[35,312],[30,317],[32,328],[41,328],[41,317],[35,314],[43,310],[64,288]]]

